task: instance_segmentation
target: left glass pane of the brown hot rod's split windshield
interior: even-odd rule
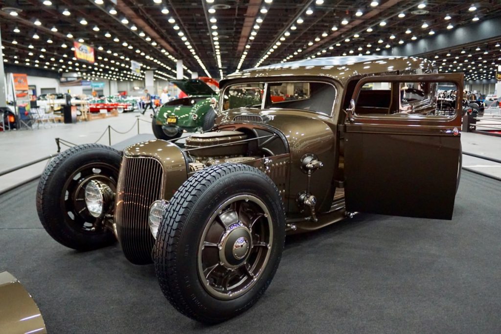
[[[223,110],[234,108],[259,108],[263,101],[265,84],[252,83],[229,86],[224,90]]]

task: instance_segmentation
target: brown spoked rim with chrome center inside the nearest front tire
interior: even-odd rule
[[[273,225],[259,198],[238,195],[208,219],[198,247],[198,274],[205,290],[232,299],[254,286],[270,257]]]

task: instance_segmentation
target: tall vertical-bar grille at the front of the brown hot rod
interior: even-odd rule
[[[151,203],[162,196],[162,165],[149,157],[124,157],[117,185],[115,222],[129,261],[152,262],[154,239],[148,226]]]

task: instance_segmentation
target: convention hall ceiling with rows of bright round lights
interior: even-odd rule
[[[130,61],[157,78],[219,78],[259,65],[377,54],[501,14],[501,2],[459,0],[19,0],[0,2],[4,61],[53,71],[133,79]],[[95,48],[76,61],[73,41]],[[441,71],[491,78],[499,40],[424,56]],[[478,50],[477,50],[478,49]],[[449,56],[447,56],[449,55]],[[457,57],[457,58],[456,58]],[[455,62],[455,63],[454,63]]]

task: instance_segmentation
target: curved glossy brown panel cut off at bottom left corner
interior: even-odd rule
[[[0,333],[47,333],[37,304],[7,271],[0,272]]]

